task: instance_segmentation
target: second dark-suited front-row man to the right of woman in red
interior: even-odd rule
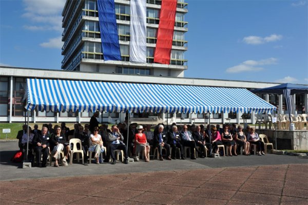
[[[170,147],[172,148],[171,159],[176,159],[177,148],[180,148],[181,159],[185,159],[184,158],[184,152],[183,152],[184,149],[183,149],[183,145],[181,144],[181,137],[180,137],[180,133],[178,132],[177,125],[173,125],[172,128],[171,128],[171,132],[168,132],[167,142],[168,142],[168,144],[170,144]]]

